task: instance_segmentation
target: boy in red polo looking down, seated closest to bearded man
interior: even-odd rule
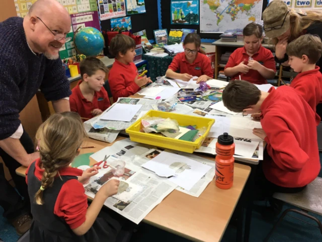
[[[91,119],[111,106],[105,88],[107,67],[96,57],[87,57],[79,65],[82,80],[71,90],[70,111],[78,113],[83,121]]]

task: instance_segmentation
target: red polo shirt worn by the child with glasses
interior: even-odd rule
[[[179,70],[180,73],[188,73],[192,76],[208,75],[213,77],[210,59],[199,52],[195,61],[191,64],[187,61],[185,52],[177,54],[169,65],[169,69],[173,71]]]

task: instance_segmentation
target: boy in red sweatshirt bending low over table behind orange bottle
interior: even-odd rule
[[[245,80],[232,80],[222,94],[224,106],[234,112],[262,112],[263,129],[253,133],[267,142],[262,162],[261,192],[295,193],[320,171],[315,114],[293,88],[274,87],[268,93]],[[259,169],[258,169],[259,170]]]

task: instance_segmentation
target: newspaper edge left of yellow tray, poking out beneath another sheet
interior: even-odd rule
[[[87,135],[92,139],[97,139],[108,143],[114,142],[114,140],[117,138],[120,131],[111,130],[107,128],[101,128],[101,129],[93,128],[91,123],[95,122],[98,118],[99,116],[84,122],[84,127],[87,132]]]

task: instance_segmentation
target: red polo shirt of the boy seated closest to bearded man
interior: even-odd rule
[[[81,89],[79,89],[79,84],[81,83],[82,80],[71,90],[71,95],[69,96],[70,111],[78,113],[82,118],[91,119],[94,118],[92,114],[94,109],[105,111],[111,106],[105,88],[102,88],[100,92],[94,92],[93,101],[90,102],[83,96]],[[86,120],[83,119],[83,121]]]

